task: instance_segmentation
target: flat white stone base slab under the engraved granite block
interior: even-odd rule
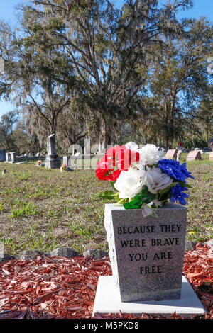
[[[92,314],[106,313],[131,314],[140,317],[143,313],[170,317],[176,312],[182,317],[204,315],[205,310],[185,276],[182,276],[181,298],[178,300],[149,300],[141,302],[121,302],[119,290],[114,286],[112,276],[99,276]]]

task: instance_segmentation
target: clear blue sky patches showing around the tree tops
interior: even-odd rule
[[[158,0],[159,4],[165,4],[166,0]],[[1,0],[0,6],[0,19],[7,21],[16,26],[16,10],[15,6],[20,3],[25,3],[26,0]],[[114,4],[119,8],[124,3],[123,0],[114,0]],[[178,14],[179,18],[192,17],[199,18],[200,16],[207,16],[210,21],[213,21],[213,0],[194,0],[194,8],[188,11],[182,11]],[[13,104],[6,101],[0,101],[0,117],[4,113],[13,110]]]

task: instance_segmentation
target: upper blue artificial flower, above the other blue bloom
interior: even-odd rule
[[[168,174],[175,181],[183,181],[186,183],[185,179],[194,177],[186,169],[186,164],[175,161],[175,159],[161,159],[158,162],[158,168],[161,169],[165,174]]]

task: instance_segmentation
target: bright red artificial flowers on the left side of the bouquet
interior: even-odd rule
[[[115,145],[97,163],[95,174],[99,180],[116,181],[121,171],[128,170],[132,162],[138,162],[139,153],[131,152],[125,146]]]

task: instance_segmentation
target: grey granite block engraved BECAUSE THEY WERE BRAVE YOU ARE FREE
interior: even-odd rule
[[[109,256],[121,301],[180,298],[187,208],[173,203],[143,218],[141,210],[105,205]]]

